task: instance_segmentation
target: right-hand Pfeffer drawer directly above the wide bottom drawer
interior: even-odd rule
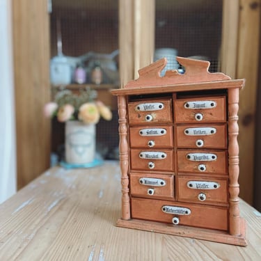
[[[178,177],[178,200],[191,203],[228,203],[228,179]]]

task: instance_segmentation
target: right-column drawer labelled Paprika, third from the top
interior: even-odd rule
[[[226,151],[177,150],[177,162],[179,173],[228,173]]]

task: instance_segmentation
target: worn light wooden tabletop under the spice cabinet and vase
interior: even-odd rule
[[[118,161],[54,167],[0,205],[0,260],[261,260],[261,214],[240,202],[248,246],[115,226]]]

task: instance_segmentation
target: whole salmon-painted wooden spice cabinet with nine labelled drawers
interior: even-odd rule
[[[139,70],[118,96],[124,228],[246,246],[239,216],[239,90],[244,79],[209,62],[166,58]]]

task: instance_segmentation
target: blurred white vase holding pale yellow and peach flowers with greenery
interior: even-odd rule
[[[44,107],[45,116],[65,122],[65,161],[87,164],[95,159],[95,125],[111,120],[108,106],[97,100],[96,90],[80,89],[79,93],[65,88],[54,91],[54,101]]]

